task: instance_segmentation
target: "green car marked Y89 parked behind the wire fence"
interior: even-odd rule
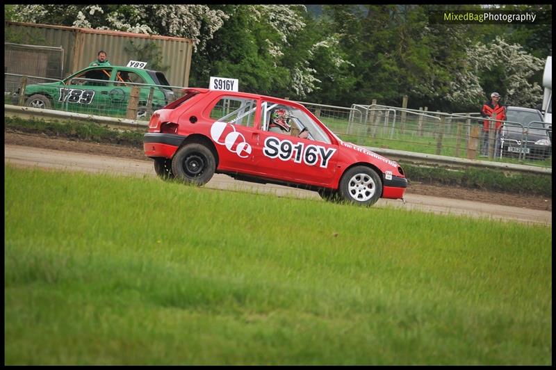
[[[174,100],[163,72],[111,65],[87,67],[60,82],[28,85],[24,101],[33,108],[125,117],[133,86],[140,88],[138,118],[147,113],[151,88],[152,111]]]

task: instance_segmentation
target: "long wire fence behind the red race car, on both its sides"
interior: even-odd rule
[[[181,96],[181,86],[132,81],[5,74],[5,104],[149,120],[152,111]],[[24,94],[21,92],[24,91]],[[551,130],[485,119],[479,113],[443,113],[377,104],[351,107],[299,102],[342,140],[407,152],[552,166]],[[500,127],[499,127],[500,126]]]

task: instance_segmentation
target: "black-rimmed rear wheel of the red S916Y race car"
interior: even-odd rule
[[[216,169],[214,154],[208,147],[191,143],[181,147],[172,159],[172,173],[186,184],[206,184]]]

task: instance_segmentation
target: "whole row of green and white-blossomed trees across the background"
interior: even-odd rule
[[[491,6],[546,10],[551,5]],[[350,106],[476,111],[492,90],[506,102],[541,99],[541,62],[551,24],[439,24],[432,11],[481,5],[17,5],[5,16],[40,22],[191,38],[190,86],[240,80],[248,92]],[[539,59],[540,58],[540,59]]]

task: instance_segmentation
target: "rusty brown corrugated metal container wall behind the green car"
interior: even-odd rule
[[[137,46],[154,42],[162,55],[161,64],[169,66],[165,76],[170,84],[188,86],[193,41],[187,38],[19,22],[4,22],[4,26],[17,33],[34,35],[35,41],[45,46],[63,47],[64,77],[95,61],[99,50],[106,51],[112,65],[126,65],[138,59],[125,50],[130,41]]]

